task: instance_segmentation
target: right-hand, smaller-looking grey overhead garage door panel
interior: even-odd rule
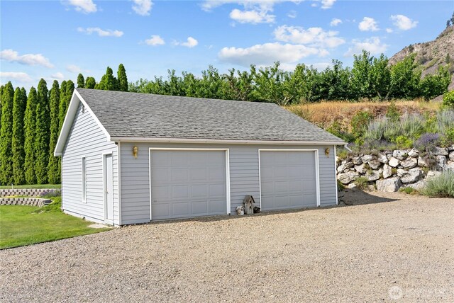
[[[317,206],[314,151],[260,151],[262,210]]]

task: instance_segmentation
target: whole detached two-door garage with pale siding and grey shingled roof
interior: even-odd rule
[[[55,155],[62,209],[94,222],[336,205],[341,139],[272,103],[74,90]]]

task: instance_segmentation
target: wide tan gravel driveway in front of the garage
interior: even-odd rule
[[[0,251],[0,302],[454,302],[454,199],[345,200]]]

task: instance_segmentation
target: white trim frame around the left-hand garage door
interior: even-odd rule
[[[230,154],[229,149],[204,149],[204,148],[170,148],[170,147],[149,147],[148,148],[148,191],[150,192],[150,222],[153,221],[151,210],[151,152],[152,151],[225,151],[226,156],[226,215],[231,214],[231,193],[230,193]]]

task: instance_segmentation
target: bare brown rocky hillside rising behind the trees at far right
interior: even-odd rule
[[[450,64],[450,72],[454,74],[454,25],[448,26],[435,40],[404,47],[389,62],[394,64],[414,53],[416,61],[423,66],[422,76],[436,73],[441,64]],[[454,89],[454,76],[448,89]]]

